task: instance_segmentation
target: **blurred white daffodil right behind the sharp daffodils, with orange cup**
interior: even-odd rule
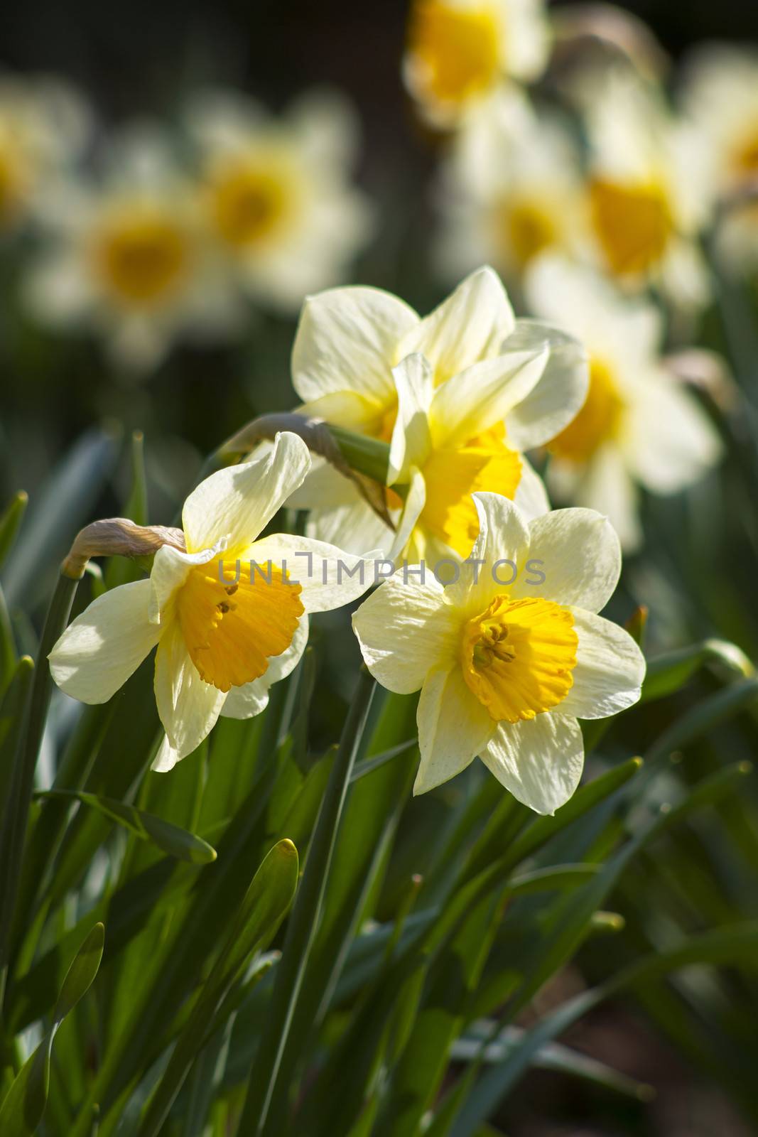
[[[631,300],[591,269],[539,260],[530,307],[582,339],[590,389],[578,415],[549,443],[548,481],[563,500],[610,517],[624,548],[639,546],[636,487],[673,493],[720,454],[718,434],[661,359],[658,309]]]

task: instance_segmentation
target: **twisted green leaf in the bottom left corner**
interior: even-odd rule
[[[103,926],[98,923],[80,947],[64,979],[52,1026],[24,1063],[0,1106],[2,1137],[31,1137],[36,1132],[48,1104],[50,1055],[56,1032],[91,987],[102,958]]]

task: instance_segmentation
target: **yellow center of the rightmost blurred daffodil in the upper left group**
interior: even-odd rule
[[[245,249],[274,232],[290,200],[281,172],[240,159],[219,171],[210,189],[214,226],[226,244]]]

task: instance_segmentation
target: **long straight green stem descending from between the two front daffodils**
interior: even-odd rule
[[[264,1134],[275,1095],[285,1092],[285,1087],[277,1086],[277,1073],[316,936],[342,808],[374,690],[374,680],[361,667],[358,690],[344,723],[310,841],[302,882],[288,924],[282,958],[276,969],[266,1026],[258,1044],[238,1128],[238,1132],[244,1134],[244,1137],[260,1137]]]

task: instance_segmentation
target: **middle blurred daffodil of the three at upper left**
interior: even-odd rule
[[[123,367],[156,367],[176,338],[233,333],[235,292],[203,235],[192,184],[158,128],[106,152],[101,181],[55,188],[40,207],[48,247],[26,282],[36,318],[93,327]]]

